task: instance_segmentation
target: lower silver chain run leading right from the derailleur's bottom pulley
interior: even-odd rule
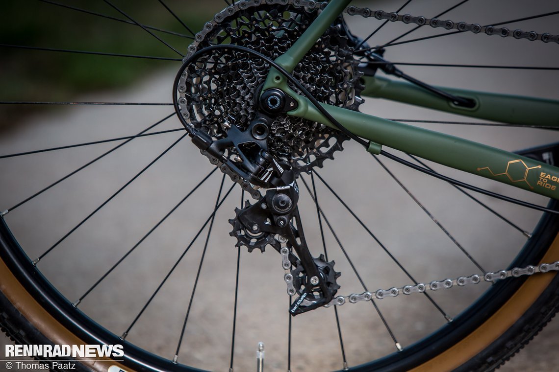
[[[522,268],[515,267],[510,270],[499,270],[495,272],[487,272],[485,274],[473,274],[467,277],[458,277],[456,279],[443,279],[442,281],[432,281],[429,284],[418,283],[413,286],[392,287],[389,289],[378,289],[375,292],[352,293],[349,296],[337,296],[333,298],[325,307],[331,305],[341,306],[345,302],[356,303],[360,301],[371,301],[373,298],[383,299],[386,297],[396,297],[400,294],[406,296],[412,293],[423,293],[426,291],[439,291],[439,289],[448,289],[454,286],[464,287],[468,284],[479,284],[481,281],[496,282],[506,278],[518,278],[524,276],[532,276],[537,273],[547,273],[559,271],[559,261],[553,263],[542,263],[537,266],[528,265]]]

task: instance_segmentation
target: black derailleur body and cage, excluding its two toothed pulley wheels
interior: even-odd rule
[[[213,139],[203,131],[192,133],[191,137],[198,148],[219,159],[236,175],[267,189],[266,195],[254,205],[247,205],[237,219],[250,234],[283,236],[288,247],[295,249],[297,256],[290,253],[290,262],[296,268],[302,267],[306,273],[306,283],[302,283],[304,291],[290,308],[291,315],[295,316],[326,305],[334,297],[335,290],[326,285],[307,248],[297,207],[299,187],[295,172],[286,162],[278,162],[268,151],[267,138],[273,117],[296,109],[297,102],[280,89],[272,88],[260,95],[257,104],[258,114],[246,128],[226,124],[225,138]],[[271,245],[280,252],[280,244]],[[316,278],[320,278],[318,282]],[[319,299],[311,294],[316,292],[321,293]],[[312,299],[310,304],[304,301],[307,296]]]

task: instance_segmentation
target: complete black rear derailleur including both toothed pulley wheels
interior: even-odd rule
[[[246,127],[242,123],[224,123],[226,136],[213,139],[203,131],[192,133],[192,142],[210,162],[220,167],[231,179],[250,192],[254,204],[247,200],[242,209],[235,209],[230,235],[252,252],[264,252],[270,245],[282,255],[287,293],[299,296],[292,302],[291,315],[313,310],[333,299],[339,286],[334,262],[323,255],[313,258],[307,247],[299,215],[299,187],[295,172],[285,161],[278,161],[268,151],[269,123],[284,107],[293,108],[290,98],[281,90],[269,89],[260,99],[263,112]],[[266,190],[264,196],[258,189]]]

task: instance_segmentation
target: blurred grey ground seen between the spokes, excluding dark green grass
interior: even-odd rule
[[[387,2],[382,2],[378,7],[391,8],[385,4]],[[530,13],[535,14],[541,12],[538,7],[545,8],[545,2],[534,2],[533,6],[534,9]],[[410,5],[409,12],[414,14],[413,4]],[[514,7],[500,9],[500,12],[504,14],[499,18],[518,16],[514,13]],[[490,18],[485,13],[463,16],[466,17],[465,20],[472,18],[480,23]],[[370,27],[370,23],[365,23],[369,21],[354,20],[354,27]],[[538,31],[548,31],[550,25],[552,23],[546,23],[545,27],[530,25],[529,22],[523,23],[523,27],[527,29],[530,29],[530,26],[541,26],[542,30],[538,28]],[[386,28],[390,28],[391,32],[398,30],[396,25],[388,25]],[[388,33],[382,32],[379,33],[379,40],[386,40],[389,37]],[[422,32],[417,33],[417,36],[421,35]],[[423,44],[394,47],[387,57],[394,61],[410,60],[410,56],[414,56],[413,60],[418,62],[436,60],[510,65],[544,64],[544,61],[534,62],[532,55],[541,52],[542,47],[547,47],[545,45],[533,45],[511,38],[501,40],[480,36],[477,39],[472,36],[458,35],[446,40],[441,38],[439,41],[435,39]],[[523,48],[522,53],[518,52],[519,47]],[[479,60],[479,55],[495,49],[498,49],[499,53],[493,60]],[[557,61],[559,58],[556,50],[546,49],[544,55],[549,56],[551,61]],[[433,56],[436,58],[433,59]],[[514,70],[438,70],[411,66],[406,68],[406,72],[433,84],[448,84],[450,80],[453,85],[464,88],[506,93],[523,91],[527,95],[559,98],[556,75],[552,75],[555,72],[528,71],[518,74]],[[132,89],[83,96],[79,100],[169,102],[174,73],[174,70],[163,71],[149,76]],[[388,118],[457,119],[451,115],[378,100],[367,100],[363,105],[363,111]],[[11,153],[126,136],[138,133],[170,113],[170,107],[60,109],[32,117],[26,123],[18,125],[18,128],[3,133],[0,137],[0,148],[2,153]],[[178,120],[172,117],[157,129],[177,128],[179,125]],[[442,128],[437,124],[424,126],[509,150],[559,139],[555,133],[518,128],[502,132],[494,128]],[[7,221],[30,257],[37,257],[178,138],[179,134],[171,133],[136,139],[21,206],[6,217]],[[33,191],[57,180],[98,154],[108,151],[112,146],[114,145],[87,146],[14,158],[9,165],[7,162],[0,163],[3,179],[7,180],[3,182],[0,192],[0,206],[15,204]],[[452,187],[441,185],[429,177],[410,173],[389,162],[386,164],[406,186],[413,189],[414,195],[424,202],[433,215],[443,222],[486,270],[504,268],[518,252],[518,247],[523,244],[522,235],[514,233],[505,224],[495,223],[492,215],[479,206],[462,206],[461,203],[466,199],[458,195]],[[211,170],[207,160],[200,156],[187,139],[179,142],[157,162],[157,167],[146,171],[127,187],[126,192],[115,197],[91,220],[53,249],[39,263],[40,269],[65,296],[72,300],[79,298],[100,277],[100,273],[111,267]],[[367,225],[418,281],[429,282],[433,279],[476,272],[473,264],[463,257],[432,221],[425,218],[414,202],[362,149],[348,144],[342,153],[337,154],[335,161],[325,163],[324,170],[320,173],[343,195],[357,215],[366,216]],[[454,172],[448,174],[456,175]],[[310,182],[309,177],[305,179]],[[172,218],[165,221],[154,234],[139,245],[106,281],[84,299],[80,304],[82,311],[97,319],[109,330],[122,334],[187,247],[203,221],[210,215],[220,180],[221,175],[213,175],[201,190],[172,215]],[[510,195],[541,202],[541,198],[537,196],[525,195],[518,190],[509,191],[507,187],[495,182],[476,182],[477,185],[492,191],[508,192]],[[227,190],[229,185],[230,182],[226,181],[224,190]],[[438,185],[438,188],[433,190],[430,187],[432,185]],[[316,256],[322,249],[316,210],[301,182],[300,187],[304,196],[300,202],[300,210],[305,223],[305,235],[312,242],[310,250]],[[321,207],[326,211],[326,216],[339,234],[340,240],[347,247],[364,282],[375,289],[408,284],[409,279],[397,270],[396,265],[387,259],[378,245],[363,233],[319,183],[317,192]],[[508,215],[524,229],[533,228],[536,212],[504,205],[485,197],[481,199]],[[235,187],[216,215],[213,227],[215,234],[212,234],[209,240],[201,281],[196,289],[179,354],[179,361],[182,363],[192,363],[209,370],[224,371],[229,368],[236,249],[233,248],[234,239],[228,235],[231,227],[227,220],[233,217],[233,209],[239,204],[240,191]],[[430,240],[420,238],[419,234],[423,233],[429,233]],[[169,359],[173,357],[205,237],[206,231],[192,245],[168,283],[162,287],[134,325],[127,338],[129,341]],[[339,279],[342,285],[340,293],[361,291],[352,269],[329,233],[326,234],[326,247],[329,249],[329,259],[334,259],[335,268],[342,272]],[[264,254],[257,251],[248,254],[245,249],[241,251],[235,370],[254,370],[256,345],[257,342],[263,341],[266,345],[266,371],[284,371],[287,354],[288,298],[285,294],[280,257],[272,249],[267,249]],[[486,288],[485,283],[476,287],[453,288],[447,291],[448,293],[433,293],[433,298],[449,316],[454,317]],[[398,341],[404,346],[418,337],[429,334],[445,322],[444,317],[434,310],[423,296],[383,300],[379,307]],[[292,371],[333,370],[342,367],[333,312],[332,309],[322,309],[293,319]],[[394,350],[394,343],[382,322],[367,303],[345,305],[338,313],[345,353],[350,365],[361,364]],[[559,361],[557,353],[553,352],[559,346],[558,338],[554,337],[557,327],[557,322],[552,322],[533,344],[503,370],[555,369]]]

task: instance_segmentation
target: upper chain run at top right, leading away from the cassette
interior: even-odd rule
[[[559,35],[551,35],[549,32],[537,33],[536,31],[522,31],[514,30],[510,31],[506,27],[494,27],[494,26],[481,26],[477,23],[466,23],[466,22],[453,22],[450,20],[439,20],[438,18],[426,18],[423,16],[412,16],[409,14],[399,15],[396,12],[385,12],[381,10],[372,11],[369,8],[357,8],[350,6],[345,11],[348,15],[359,15],[364,18],[375,17],[377,20],[388,20],[391,22],[404,22],[404,23],[415,23],[418,26],[429,25],[433,28],[442,27],[446,30],[457,30],[460,32],[470,31],[473,33],[485,33],[485,35],[499,35],[501,37],[514,37],[517,39],[527,39],[529,41],[541,40],[543,42],[556,42],[559,43]]]

